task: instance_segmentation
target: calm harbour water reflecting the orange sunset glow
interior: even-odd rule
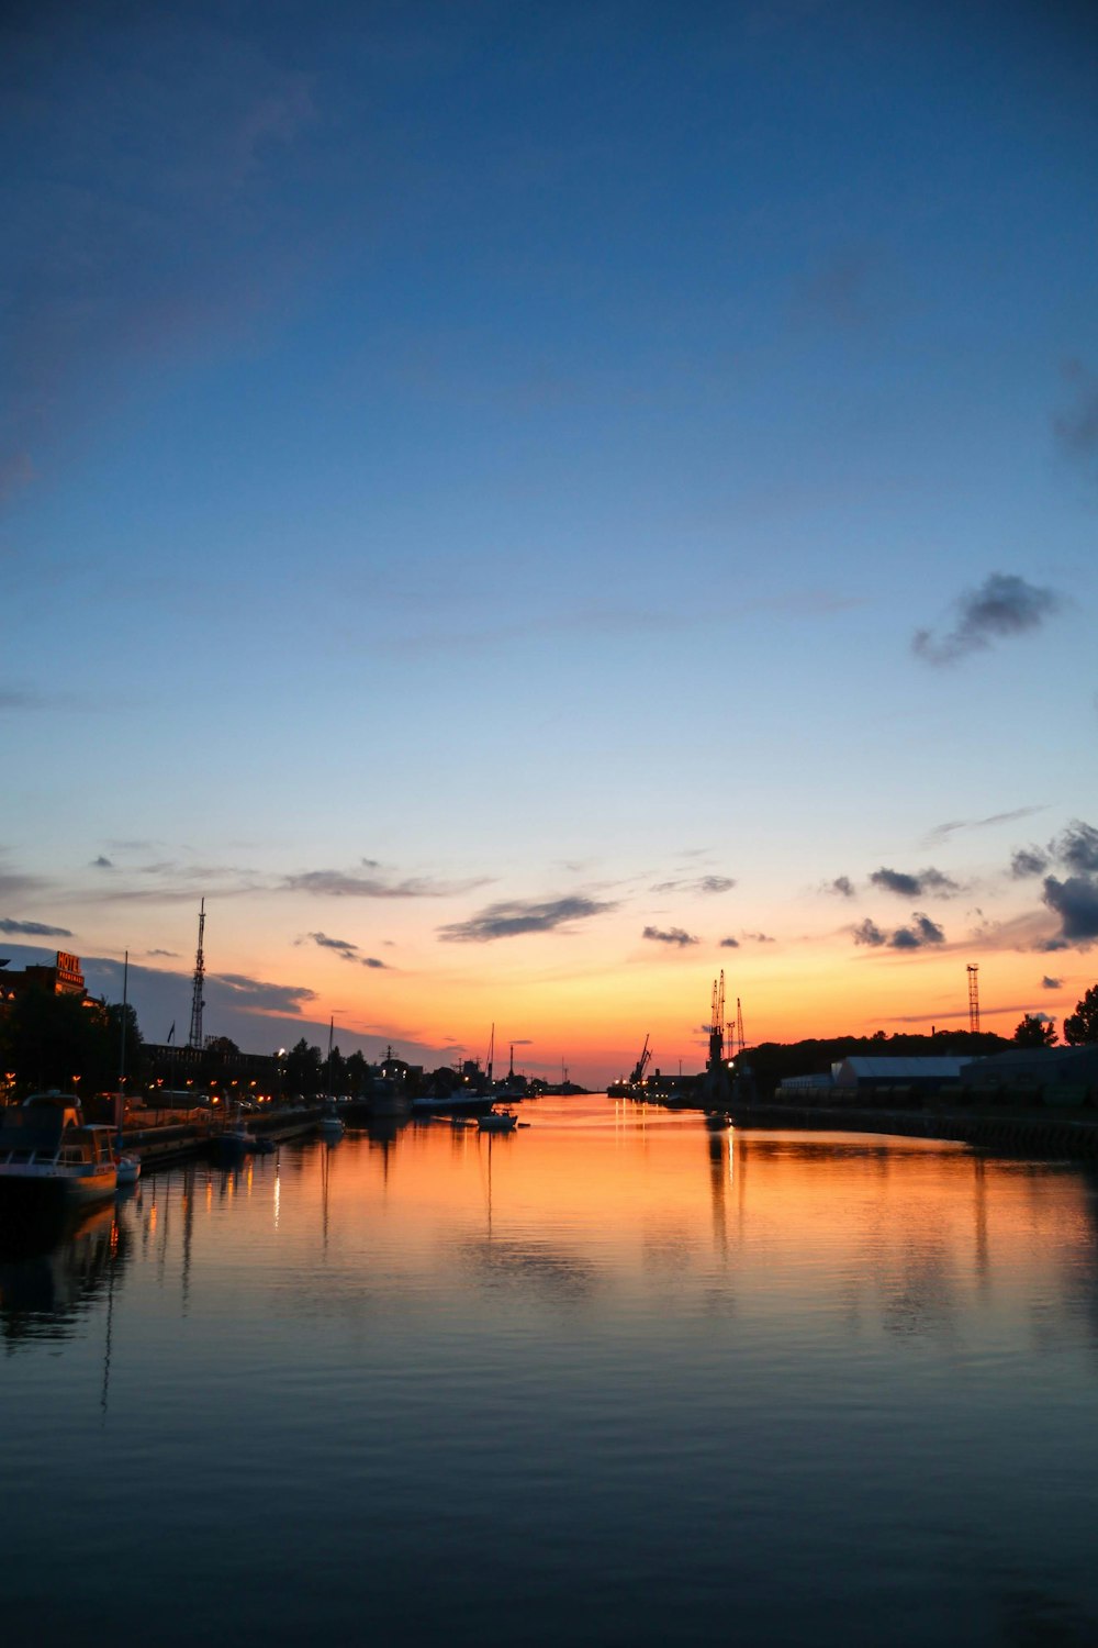
[[[1098,1195],[551,1099],[0,1259],[0,1628],[1098,1643]]]

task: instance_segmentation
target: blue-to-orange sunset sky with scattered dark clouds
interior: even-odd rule
[[[1098,979],[1098,16],[13,3],[0,954],[599,1084]],[[505,1051],[504,1056],[509,1056]]]

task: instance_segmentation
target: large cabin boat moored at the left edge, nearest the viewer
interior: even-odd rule
[[[31,1093],[0,1122],[0,1201],[87,1206],[119,1183],[114,1129],[84,1122],[71,1093]]]

